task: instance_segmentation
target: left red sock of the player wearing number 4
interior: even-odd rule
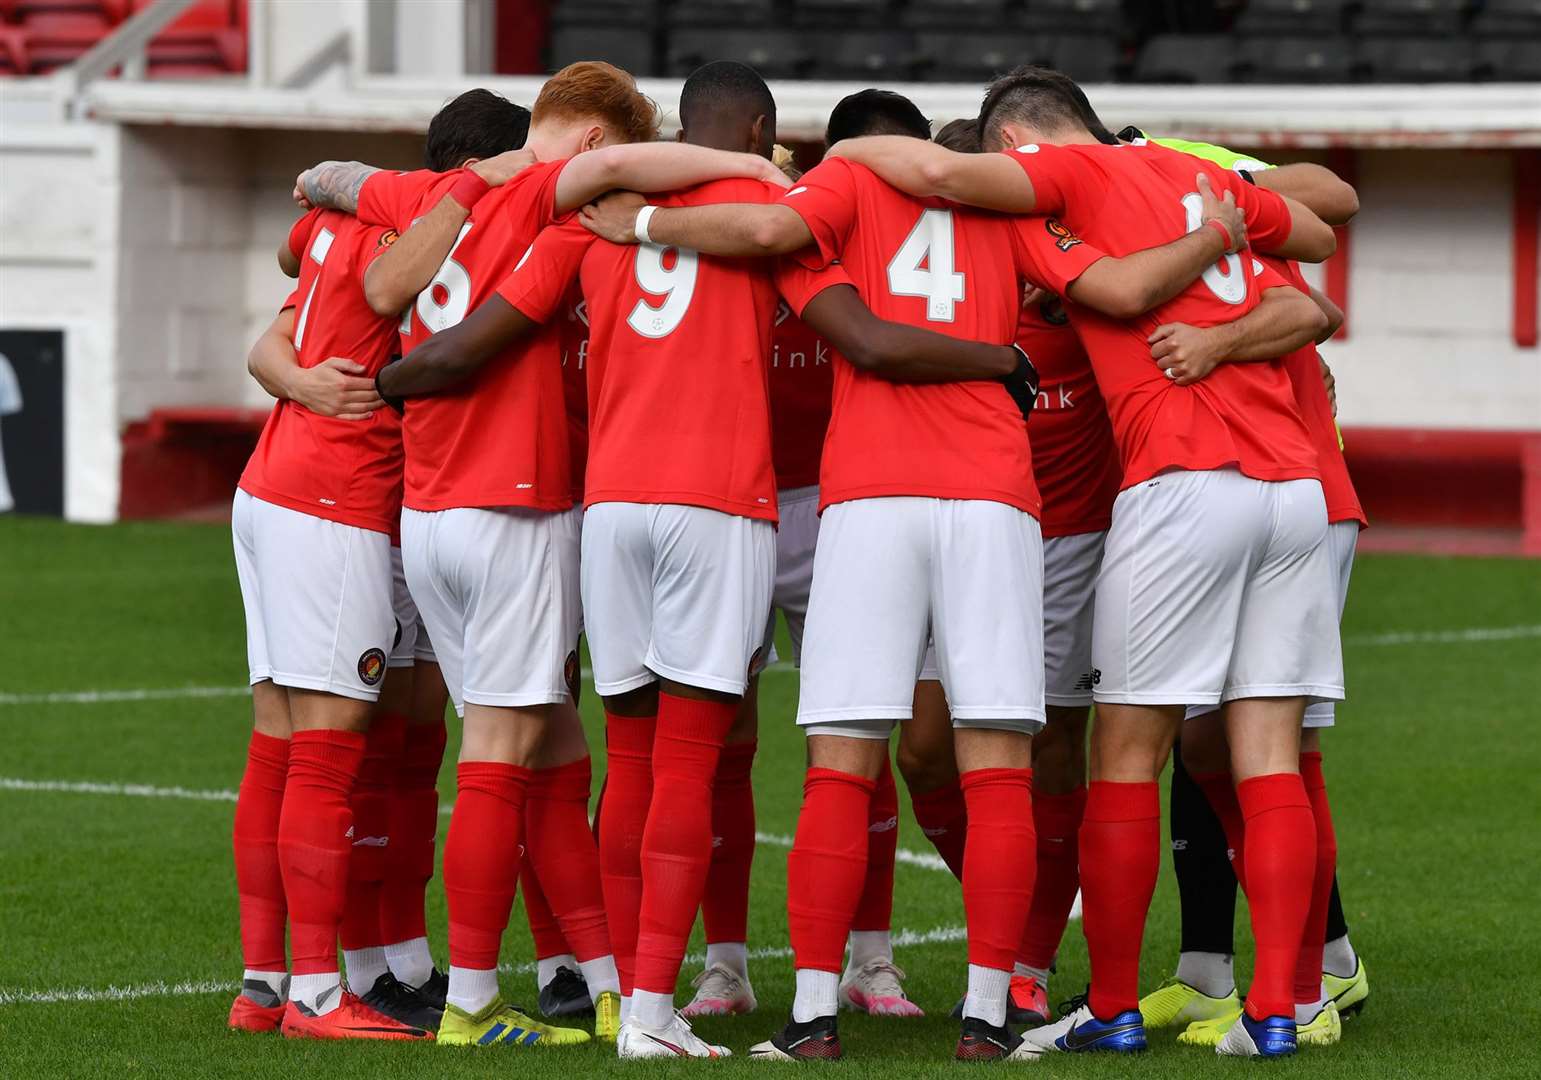
[[[798,969],[840,972],[866,883],[872,792],[865,776],[809,769],[786,858],[786,926]]]

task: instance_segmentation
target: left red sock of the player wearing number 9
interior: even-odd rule
[[[621,994],[636,971],[636,920],[643,907],[643,826],[653,798],[656,716],[607,712],[604,797],[599,800],[599,884]]]

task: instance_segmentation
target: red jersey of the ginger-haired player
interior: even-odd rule
[[[536,234],[555,220],[564,162],[541,162],[476,203],[439,273],[402,316],[402,350],[456,325],[492,296]],[[405,231],[455,186],[458,173],[376,173],[359,216]],[[566,510],[573,479],[561,333],[549,327],[516,342],[467,382],[407,399],[404,505]]]

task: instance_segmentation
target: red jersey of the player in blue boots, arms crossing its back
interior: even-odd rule
[[[1199,228],[1194,176],[1236,194],[1247,234],[1268,247],[1288,237],[1284,200],[1211,162],[1156,145],[1029,145],[1008,151],[1032,180],[1037,208],[1110,254],[1125,256]],[[1151,359],[1147,337],[1162,324],[1213,327],[1257,305],[1250,254],[1225,256],[1176,297],[1139,319],[1110,319],[1071,307],[1123,458],[1123,485],[1165,468],[1236,465],[1262,481],[1318,476],[1316,450],[1294,411],[1279,364],[1222,364],[1202,382],[1177,387]]]

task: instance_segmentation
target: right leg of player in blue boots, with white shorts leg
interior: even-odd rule
[[[1250,484],[1271,525],[1247,579],[1224,718],[1256,961],[1244,1014],[1217,1049],[1271,1057],[1296,1048],[1294,974],[1318,869],[1301,721],[1307,696],[1342,698],[1342,655],[1321,484]]]

